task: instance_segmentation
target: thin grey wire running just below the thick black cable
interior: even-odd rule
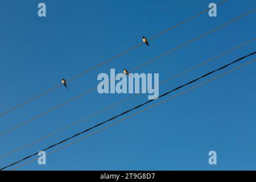
[[[88,134],[88,135],[85,135],[84,137],[81,137],[81,138],[79,138],[79,139],[73,141],[73,142],[70,142],[70,143],[68,143],[68,144],[65,144],[65,146],[62,146],[62,147],[57,148],[57,149],[55,149],[55,150],[53,150],[53,151],[51,151],[51,152],[48,152],[47,155],[52,154],[53,152],[59,151],[59,150],[65,148],[65,147],[67,147],[67,146],[70,146],[71,144],[77,143],[77,142],[79,142],[80,140],[89,137],[90,135],[93,135],[93,134],[96,134],[96,133],[98,133],[98,132],[100,132],[100,131],[102,131],[102,130],[108,129],[109,127],[114,126],[114,125],[116,125],[116,124],[118,124],[118,123],[120,123],[120,122],[122,122],[122,121],[125,121],[125,119],[131,118],[131,117],[133,117],[134,115],[137,115],[137,114],[139,114],[139,113],[142,113],[143,111],[145,111],[145,110],[147,110],[147,109],[151,109],[152,107],[155,107],[155,106],[157,106],[157,105],[163,104],[164,102],[166,102],[166,101],[168,101],[168,100],[171,100],[172,98],[175,98],[175,97],[177,97],[177,96],[180,96],[181,94],[184,94],[184,93],[188,92],[189,90],[192,90],[192,89],[195,89],[195,88],[197,88],[197,87],[199,87],[199,86],[201,86],[201,85],[207,84],[208,82],[210,82],[210,81],[212,81],[212,80],[215,80],[215,79],[218,78],[218,77],[224,76],[224,75],[226,75],[226,74],[228,74],[228,73],[230,73],[230,72],[232,72],[232,71],[234,71],[234,70],[236,70],[236,69],[238,69],[238,68],[241,68],[241,67],[243,67],[243,66],[245,66],[245,65],[247,65],[247,64],[253,63],[253,61],[255,61],[255,60],[256,60],[256,59],[251,60],[251,61],[249,61],[249,62],[247,62],[247,63],[245,63],[245,64],[242,64],[242,65],[240,65],[240,66],[238,66],[238,67],[236,67],[236,68],[231,69],[231,70],[228,71],[228,72],[225,72],[225,73],[222,73],[221,75],[218,75],[218,76],[216,76],[216,77],[210,78],[209,80],[204,81],[204,82],[202,82],[201,84],[198,84],[198,85],[196,85],[196,86],[192,86],[192,88],[189,88],[189,89],[187,89],[187,90],[184,90],[183,92],[180,92],[180,93],[178,93],[178,94],[175,94],[174,96],[169,97],[169,98],[167,98],[166,100],[163,100],[163,101],[161,101],[161,102],[158,102],[158,103],[156,103],[156,104],[154,104],[154,105],[152,105],[152,106],[149,106],[149,107],[147,107],[147,108],[145,108],[145,109],[143,109],[143,110],[138,111],[137,113],[134,113],[134,114],[131,114],[131,115],[125,117],[125,118],[122,118],[122,119],[120,119],[119,121],[112,123],[111,125],[105,126],[105,127],[101,128],[101,129],[99,129],[99,130],[94,131],[93,133],[90,133],[90,134]],[[23,167],[23,166],[25,166],[25,165],[27,165],[27,164],[29,164],[29,163],[31,163],[31,162],[34,162],[35,160],[38,160],[38,159],[39,159],[39,158],[32,159],[32,160],[28,161],[27,163],[21,164],[20,166],[17,166],[17,167],[15,167],[15,168],[11,169],[11,171],[14,171],[14,170],[17,169],[17,168]]]

